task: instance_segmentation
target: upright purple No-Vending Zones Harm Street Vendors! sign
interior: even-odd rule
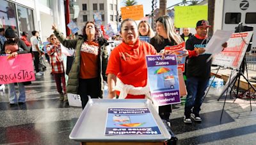
[[[154,104],[164,106],[180,103],[176,55],[148,55],[148,83]]]

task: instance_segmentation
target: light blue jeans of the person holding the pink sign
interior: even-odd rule
[[[17,83],[19,86],[19,99],[18,102],[25,102],[26,101],[26,94],[25,94],[25,87],[23,83]],[[8,92],[9,92],[9,100],[11,104],[17,103],[17,95],[15,91],[14,83],[8,84]]]

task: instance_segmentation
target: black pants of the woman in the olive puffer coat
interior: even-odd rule
[[[100,84],[99,78],[81,79],[79,78],[78,94],[82,101],[82,107],[86,106],[88,102],[88,95],[92,99],[98,99],[100,97]]]

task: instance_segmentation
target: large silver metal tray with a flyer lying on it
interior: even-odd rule
[[[169,132],[150,100],[90,99],[69,138],[86,145],[163,145],[173,139]]]

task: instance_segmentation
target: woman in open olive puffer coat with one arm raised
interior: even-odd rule
[[[84,109],[89,96],[93,99],[102,98],[103,79],[106,80],[108,64],[108,51],[105,46],[108,42],[102,38],[92,21],[86,22],[83,35],[77,35],[76,39],[65,38],[55,24],[52,24],[52,29],[63,46],[76,49],[76,57],[68,74],[67,93],[78,93]]]

